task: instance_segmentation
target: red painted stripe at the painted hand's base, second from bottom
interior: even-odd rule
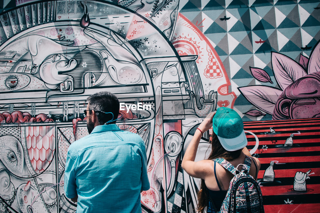
[[[277,185],[277,186],[260,186],[262,195],[295,195],[295,194],[319,194],[320,184],[307,184],[307,189],[313,189],[309,192],[293,192],[292,185]],[[289,191],[289,192],[288,192]]]

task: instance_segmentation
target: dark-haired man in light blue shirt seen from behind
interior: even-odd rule
[[[66,196],[78,202],[77,213],[141,212],[140,193],[150,188],[144,142],[116,125],[114,94],[95,93],[87,101],[89,135],[68,148]]]

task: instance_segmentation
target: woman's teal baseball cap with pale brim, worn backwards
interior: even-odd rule
[[[212,119],[213,132],[218,136],[223,148],[236,151],[247,146],[240,115],[233,109],[220,107]]]

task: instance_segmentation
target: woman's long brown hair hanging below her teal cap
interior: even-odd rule
[[[227,151],[225,150],[222,145],[220,144],[220,141],[216,134],[213,133],[213,135],[210,137],[211,143],[211,153],[209,155],[208,160],[213,160],[216,158],[224,158],[227,161],[232,161],[236,158],[238,158],[241,154],[242,149],[236,150],[236,151]],[[197,193],[198,196],[198,205],[197,205],[197,211],[200,213],[203,213],[204,207],[208,204],[208,194],[207,194],[207,186],[204,183],[204,180],[201,179],[200,184],[200,190]]]

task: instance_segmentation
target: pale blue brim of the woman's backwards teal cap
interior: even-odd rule
[[[218,138],[223,148],[225,148],[227,151],[236,151],[242,149],[248,144],[244,130],[242,130],[241,134],[236,138],[222,138],[220,136],[218,136]]]

